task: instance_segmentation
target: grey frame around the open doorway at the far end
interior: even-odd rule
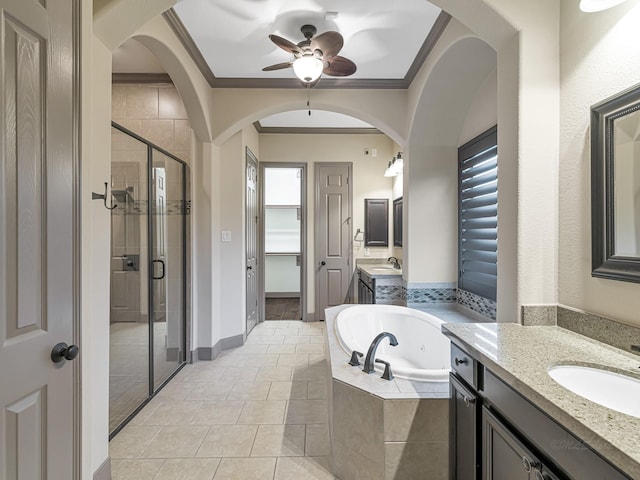
[[[264,237],[265,237],[265,169],[267,168],[299,168],[301,170],[300,178],[300,310],[303,322],[313,321],[313,318],[309,318],[307,313],[307,215],[308,215],[308,201],[307,201],[307,164],[303,162],[260,162],[260,175],[258,177],[258,185],[260,188],[260,218],[263,219],[262,225],[260,225],[260,235],[258,242],[259,258],[262,265],[265,264],[265,249],[264,249]],[[260,271],[259,276],[259,289],[260,295],[260,320],[264,321],[265,312],[265,279],[264,268]]]

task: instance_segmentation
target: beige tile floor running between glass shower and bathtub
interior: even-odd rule
[[[323,329],[266,321],[185,366],[111,441],[113,480],[333,479]]]

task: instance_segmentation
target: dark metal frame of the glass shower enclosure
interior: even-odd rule
[[[188,282],[187,282],[187,272],[190,272],[191,268],[190,265],[187,265],[187,260],[190,258],[188,255],[188,249],[189,249],[189,245],[187,244],[187,229],[189,227],[189,224],[187,222],[187,215],[190,213],[189,210],[189,205],[190,202],[187,199],[187,177],[190,173],[190,169],[189,169],[189,165],[184,161],[181,160],[180,158],[176,157],[174,154],[172,154],[171,152],[168,152],[167,150],[165,150],[162,147],[159,147],[158,145],[150,142],[149,140],[146,140],[145,138],[141,137],[140,135],[132,132],[131,130],[129,130],[126,127],[123,127],[122,125],[116,123],[116,122],[111,122],[111,126],[113,128],[115,128],[116,130],[120,131],[121,133],[124,133],[125,135],[129,135],[130,137],[138,140],[141,143],[144,143],[147,147],[147,165],[146,165],[146,171],[147,171],[147,249],[148,249],[148,254],[147,254],[147,282],[148,282],[148,288],[147,288],[147,301],[148,301],[148,305],[147,305],[147,310],[148,310],[148,318],[147,318],[147,322],[149,325],[149,344],[148,344],[148,349],[149,349],[149,377],[148,377],[148,382],[149,382],[149,390],[148,390],[148,396],[145,400],[143,400],[140,405],[138,405],[129,415],[127,415],[127,417],[111,432],[109,432],[109,440],[111,440],[115,435],[118,434],[118,432],[120,432],[120,430],[122,430],[127,423],[129,423],[129,421],[131,421],[132,418],[134,418],[139,412],[140,410],[142,410],[154,397],[155,395],[158,394],[158,392],[160,392],[160,390],[162,390],[162,388],[164,388],[164,386],[169,383],[171,381],[171,379],[187,364],[188,361],[188,352],[190,352],[190,345],[191,345],[191,341],[190,341],[190,330],[189,330],[189,326],[190,326],[190,322],[188,322],[187,319],[187,311],[189,309],[189,297],[188,297],[188,293],[189,293],[189,289],[188,289]],[[153,218],[152,218],[152,201],[154,198],[154,184],[153,184],[153,151],[156,150],[157,152],[169,157],[172,160],[175,160],[182,168],[182,222],[181,222],[181,227],[182,227],[182,292],[181,292],[181,297],[182,297],[182,308],[181,308],[181,330],[182,330],[182,341],[181,341],[181,345],[180,347],[182,348],[182,352],[183,352],[183,356],[180,360],[180,362],[177,364],[176,369],[173,371],[173,373],[171,373],[167,378],[165,378],[159,385],[157,388],[155,388],[154,384],[155,384],[155,376],[154,376],[154,332],[153,332],[153,324],[154,324],[154,316],[155,316],[155,311],[154,311],[154,288],[153,288],[153,279],[154,279],[154,268],[153,268],[153,251],[154,251],[154,223],[153,223]],[[110,273],[111,275],[111,273]]]

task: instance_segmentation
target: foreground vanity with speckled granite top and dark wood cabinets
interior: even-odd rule
[[[559,327],[446,324],[450,478],[640,478],[640,418],[556,383],[555,365],[638,378],[640,358]]]

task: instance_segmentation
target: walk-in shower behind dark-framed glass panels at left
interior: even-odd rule
[[[186,361],[188,166],[112,123],[111,436]]]

